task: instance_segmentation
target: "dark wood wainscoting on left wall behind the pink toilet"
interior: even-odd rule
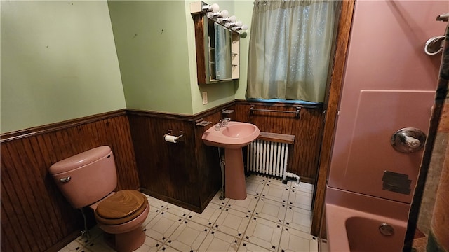
[[[1,251],[55,251],[80,235],[81,212],[62,196],[48,167],[103,145],[114,151],[116,189],[138,189],[125,110],[1,134]]]

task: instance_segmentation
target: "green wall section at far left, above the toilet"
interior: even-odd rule
[[[126,107],[106,1],[1,1],[1,132]]]

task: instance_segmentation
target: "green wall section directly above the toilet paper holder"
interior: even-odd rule
[[[108,1],[129,109],[192,114],[184,1]]]

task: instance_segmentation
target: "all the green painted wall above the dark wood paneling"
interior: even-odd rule
[[[1,1],[1,132],[123,108],[192,115],[244,99],[249,36],[239,81],[198,85],[192,2]],[[249,25],[252,0],[210,3]]]

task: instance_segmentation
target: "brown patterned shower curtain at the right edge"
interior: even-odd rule
[[[415,196],[412,202],[412,208],[409,214],[408,224],[408,237],[406,237],[406,246],[404,251],[416,251],[416,252],[440,252],[449,251],[449,25],[445,30],[445,40],[443,41],[443,55],[441,56],[441,66],[438,75],[438,83],[436,89],[435,104],[433,109],[433,115],[431,118],[431,128],[434,127],[436,134],[431,137],[430,132],[427,141],[431,145],[431,153],[426,153],[424,150],[424,157],[431,155],[431,165],[441,165],[441,175],[427,174],[427,180],[418,180],[417,190],[415,190]],[[435,139],[445,139],[441,141],[435,141]],[[430,151],[429,151],[430,152]],[[423,158],[424,163],[424,158]],[[423,167],[421,167],[423,169]],[[422,173],[423,171],[420,171]],[[427,171],[424,171],[427,173]],[[432,179],[438,179],[438,181],[431,181]],[[431,203],[422,204],[420,197],[422,194],[420,190],[424,189],[424,186],[420,186],[424,183],[437,183],[437,190],[434,195],[427,195],[427,197],[434,197],[434,204]],[[426,189],[432,188],[431,185],[425,185]],[[415,204],[416,202],[416,204]],[[431,209],[433,208],[433,211]],[[417,225],[418,216],[427,215],[431,211],[430,223],[423,223]],[[419,223],[418,223],[419,224]],[[416,229],[416,230],[415,230]],[[429,230],[428,234],[424,234],[420,229]],[[411,239],[411,246],[408,244]]]

